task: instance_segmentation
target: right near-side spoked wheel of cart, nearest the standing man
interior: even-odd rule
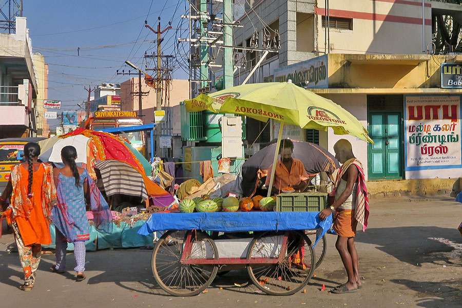
[[[287,248],[281,251],[287,236]],[[247,259],[277,259],[276,264],[248,264],[247,272],[252,282],[269,295],[292,295],[310,280],[315,269],[315,257],[310,239],[302,232],[287,231],[266,233],[252,240]]]

